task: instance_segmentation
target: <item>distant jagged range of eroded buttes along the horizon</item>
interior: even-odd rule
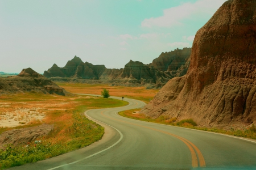
[[[75,56],[64,67],[53,64],[50,69],[44,71],[44,76],[54,81],[159,88],[171,78],[187,73],[190,54],[191,48],[175,49],[160,54],[149,65],[130,60],[123,69],[107,69],[104,65],[82,62]]]

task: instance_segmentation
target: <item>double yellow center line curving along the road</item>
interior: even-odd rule
[[[168,135],[171,135],[172,137],[180,139],[180,141],[184,142],[185,145],[187,145],[187,147],[189,148],[189,151],[191,152],[192,167],[194,167],[194,168],[199,167],[199,163],[200,163],[200,167],[206,167],[204,156],[202,155],[201,151],[192,142],[188,141],[188,139],[185,139],[183,137],[179,137],[178,135],[175,135],[175,134],[172,134],[172,133],[168,133],[167,131],[163,131],[163,130],[159,130],[159,129],[154,129],[154,128],[150,128],[148,126],[142,126],[142,125],[133,124],[133,123],[130,123],[130,122],[118,120],[116,118],[112,118],[112,117],[106,116],[105,114],[103,114],[103,112],[104,111],[101,112],[102,116],[111,118],[112,120],[116,120],[116,121],[119,121],[119,122],[124,122],[126,124],[135,125],[135,126],[139,126],[139,127],[142,127],[142,128],[151,129],[151,130],[154,130],[154,131],[159,131],[161,133],[168,134]]]

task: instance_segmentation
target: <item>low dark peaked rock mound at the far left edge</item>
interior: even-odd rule
[[[31,68],[23,69],[20,74],[8,78],[0,78],[0,95],[16,92],[43,92],[44,94],[72,95],[57,86],[45,76]]]

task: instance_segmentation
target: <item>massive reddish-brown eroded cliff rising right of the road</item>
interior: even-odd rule
[[[196,33],[186,75],[171,79],[141,113],[202,126],[256,122],[256,1],[230,0]]]

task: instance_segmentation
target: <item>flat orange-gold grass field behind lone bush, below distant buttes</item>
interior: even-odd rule
[[[74,94],[101,95],[102,89],[106,88],[109,90],[110,96],[123,96],[141,100],[145,103],[152,100],[159,91],[155,89],[146,90],[146,87],[109,86],[108,84],[57,83],[57,85]]]

